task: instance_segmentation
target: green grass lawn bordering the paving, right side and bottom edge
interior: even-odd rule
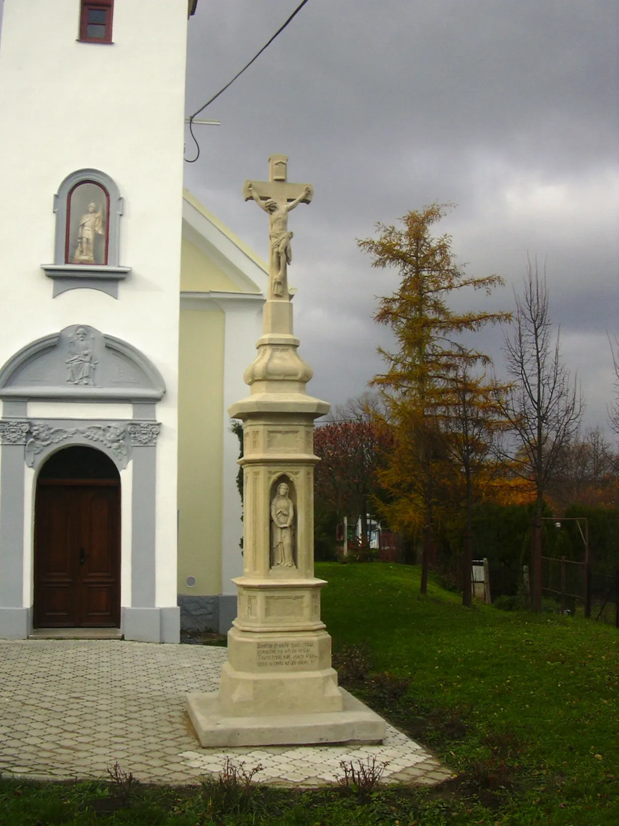
[[[433,789],[237,794],[0,781],[0,824],[616,826],[619,630],[593,620],[475,605],[416,567],[316,566],[343,682],[435,752]],[[130,771],[130,766],[123,767]],[[111,806],[97,802],[111,800]]]

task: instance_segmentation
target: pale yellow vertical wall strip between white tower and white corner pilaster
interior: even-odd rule
[[[182,310],[178,382],[178,592],[221,591],[224,322],[215,306]],[[187,577],[196,577],[188,588]]]

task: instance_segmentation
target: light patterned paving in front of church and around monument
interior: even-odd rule
[[[217,688],[225,648],[120,640],[0,641],[0,772],[33,779],[107,778],[116,762],[143,782],[189,784],[226,757],[258,763],[256,781],[320,786],[340,761],[388,762],[385,781],[451,776],[387,727],[380,746],[203,749],[185,711],[189,691]]]

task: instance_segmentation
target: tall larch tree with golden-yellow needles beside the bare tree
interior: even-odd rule
[[[386,370],[372,383],[383,392],[395,435],[388,467],[380,474],[390,496],[383,510],[390,525],[403,533],[423,533],[423,594],[428,590],[433,523],[444,504],[442,487],[456,472],[436,413],[445,401],[450,376],[465,368],[469,373],[483,370],[490,363],[489,356],[465,345],[463,336],[511,319],[502,311],[451,310],[454,293],[470,287],[489,295],[503,285],[503,278],[466,277],[451,250],[451,236],[432,235],[432,226],[449,208],[451,204],[434,203],[412,210],[402,218],[402,227],[378,223],[377,239],[357,241],[371,256],[373,267],[395,268],[401,278],[396,292],[380,299],[375,316],[391,328],[397,349],[379,348]]]

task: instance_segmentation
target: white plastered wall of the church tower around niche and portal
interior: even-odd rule
[[[157,405],[162,430],[157,447],[156,603],[176,605],[187,0],[116,0],[113,45],[77,42],[78,10],[77,0],[4,3],[0,288],[5,313],[0,363],[33,339],[81,323],[129,341],[162,373],[167,392]],[[83,168],[111,176],[124,198],[120,263],[132,271],[120,283],[118,300],[82,289],[52,299],[52,283],[40,268],[54,257],[54,192],[69,173]],[[43,410],[35,403],[29,413],[42,415]],[[126,488],[124,484],[124,506]],[[29,507],[26,500],[26,510]],[[123,531],[127,515],[124,510]],[[31,513],[25,515],[31,518]],[[30,553],[31,526],[28,530],[25,545]],[[127,570],[124,565],[123,605],[130,593]]]

